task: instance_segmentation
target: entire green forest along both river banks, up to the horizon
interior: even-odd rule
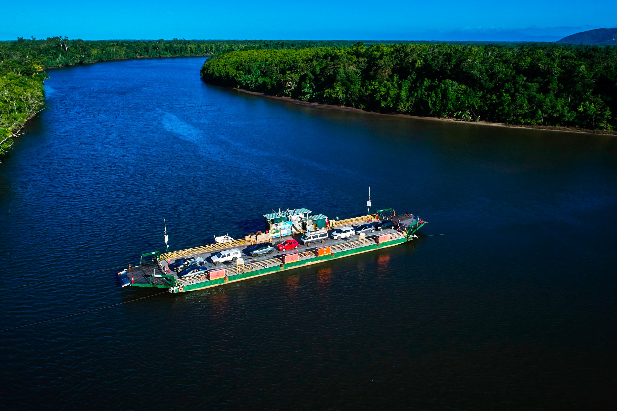
[[[385,42],[388,43],[388,42]],[[210,55],[204,81],[382,113],[565,126],[617,125],[617,47],[305,40],[0,41],[0,154],[44,108],[46,68]]]

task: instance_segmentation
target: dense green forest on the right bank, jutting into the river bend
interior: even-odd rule
[[[241,50],[209,59],[207,83],[381,113],[616,126],[617,47],[365,44]]]

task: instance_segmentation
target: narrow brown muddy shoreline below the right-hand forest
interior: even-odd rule
[[[283,96],[274,96],[273,94],[267,94],[257,91],[250,91],[239,89],[237,87],[230,87],[230,89],[252,94],[254,96],[265,97],[267,99],[279,100],[283,102],[288,102],[291,104],[302,105],[304,107],[311,108],[320,108],[321,110],[339,110],[344,112],[352,112],[352,113],[363,113],[363,114],[371,114],[371,115],[379,115],[379,116],[391,116],[391,117],[402,117],[402,118],[414,118],[416,120],[428,120],[428,121],[450,121],[454,123],[462,123],[462,124],[474,124],[478,126],[493,126],[493,127],[507,127],[507,128],[527,128],[527,129],[537,129],[537,130],[547,130],[547,131],[562,131],[562,132],[576,132],[581,134],[605,134],[608,136],[617,136],[617,130],[590,130],[583,128],[573,128],[573,127],[560,127],[560,126],[539,126],[537,124],[506,124],[506,123],[491,123],[489,121],[465,121],[458,120],[456,118],[439,118],[439,117],[428,117],[428,116],[412,116],[407,114],[398,114],[398,113],[379,113],[379,112],[370,112],[367,110],[361,110],[360,108],[355,107],[347,107],[344,105],[333,105],[333,104],[323,104],[323,103],[314,103],[308,102],[298,99],[292,99],[291,97],[283,97]]]

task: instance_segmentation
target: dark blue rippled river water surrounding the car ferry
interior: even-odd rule
[[[0,165],[7,409],[610,409],[614,137],[300,107],[203,59],[49,72]],[[394,207],[405,245],[224,287],[118,289],[264,213]],[[445,235],[437,235],[445,234]],[[430,236],[430,237],[429,237]]]

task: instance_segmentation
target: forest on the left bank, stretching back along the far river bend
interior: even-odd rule
[[[139,57],[217,55],[244,49],[340,47],[350,41],[306,40],[117,40],[66,37],[0,41],[0,154],[14,143],[23,124],[44,108],[44,70],[75,64]]]

